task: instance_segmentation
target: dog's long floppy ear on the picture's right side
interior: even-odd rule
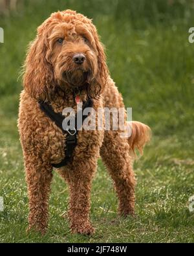
[[[106,64],[106,56],[105,56],[105,52],[104,52],[104,47],[103,44],[100,42],[100,38],[98,37],[98,33],[96,30],[96,27],[93,27],[92,29],[92,34],[94,37],[94,41],[96,44],[96,51],[97,51],[97,59],[98,59],[98,72],[96,74],[96,77],[94,79],[94,86],[91,86],[91,94],[92,95],[96,95],[96,97],[98,98],[98,96],[100,96],[100,94],[102,93],[105,84],[107,83],[107,78],[109,75],[109,70],[107,68],[107,64]],[[94,98],[96,98],[94,97]]]

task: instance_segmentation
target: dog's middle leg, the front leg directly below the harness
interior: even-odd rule
[[[69,219],[72,233],[90,235],[94,232],[89,214],[91,209],[91,183],[97,159],[77,159],[69,172]]]

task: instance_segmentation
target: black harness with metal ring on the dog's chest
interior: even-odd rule
[[[81,111],[82,124],[83,124],[83,121],[88,116],[88,115],[83,115],[83,110],[85,110],[85,108],[92,108],[92,106],[93,106],[93,101],[92,99],[88,98],[85,104],[83,104],[83,108],[81,110],[78,110],[78,111]],[[62,130],[63,134],[67,134],[66,143],[65,143],[65,158],[61,161],[61,163],[52,164],[52,167],[54,168],[63,167],[67,165],[67,163],[69,163],[70,160],[72,159],[74,148],[77,145],[78,130],[80,130],[82,126],[82,124],[79,124],[79,122],[77,124],[78,115],[80,115],[80,113],[77,113],[76,116],[74,117],[75,118],[74,129],[67,131],[63,129],[62,123],[65,117],[61,113],[56,113],[52,109],[52,106],[42,101],[39,101],[39,107],[47,115],[47,117],[49,117],[52,121],[55,122],[56,126],[58,126]]]

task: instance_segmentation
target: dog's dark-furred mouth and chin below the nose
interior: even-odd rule
[[[83,69],[76,69],[74,71],[64,71],[63,80],[72,87],[80,87],[89,82],[91,72]]]

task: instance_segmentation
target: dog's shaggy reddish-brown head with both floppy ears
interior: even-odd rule
[[[108,69],[103,45],[91,19],[72,10],[52,14],[31,43],[23,84],[35,99],[47,99],[56,87],[84,88],[96,99]]]

